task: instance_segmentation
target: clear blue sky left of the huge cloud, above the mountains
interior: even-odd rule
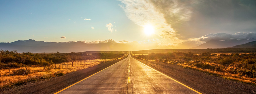
[[[127,18],[116,0],[1,1],[1,42],[142,41],[143,27]],[[82,17],[82,18],[81,18]],[[70,20],[69,20],[70,19]],[[91,19],[84,20],[84,19]],[[112,23],[112,33],[106,25]],[[91,27],[94,27],[92,29]],[[61,36],[67,39],[60,39]],[[132,37],[132,38],[131,38]]]

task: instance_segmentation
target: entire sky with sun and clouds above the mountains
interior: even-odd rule
[[[255,0],[2,0],[0,18],[0,42],[125,40],[187,49],[256,39]]]

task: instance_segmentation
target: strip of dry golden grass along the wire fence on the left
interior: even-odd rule
[[[3,87],[15,85],[15,84],[21,84],[21,83],[28,82],[28,81],[35,81],[35,80],[39,80],[39,79],[55,77],[55,75],[57,73],[67,74],[67,73],[71,73],[71,72],[78,71],[81,69],[86,69],[86,68],[93,67],[95,65],[100,64],[101,61],[107,62],[107,61],[112,61],[112,59],[106,59],[106,60],[95,59],[93,62],[89,62],[89,60],[87,60],[87,62],[86,61],[85,62],[84,61],[82,61],[82,62],[75,61],[75,62],[73,62],[73,67],[72,67],[72,62],[66,62],[66,63],[52,65],[52,66],[50,66],[51,67],[50,70],[48,70],[48,67],[34,67],[34,68],[27,67],[27,69],[29,69],[31,72],[33,70],[33,73],[29,73],[24,76],[22,76],[23,73],[21,73],[21,75],[16,74],[16,75],[8,76],[9,69],[2,69],[2,70],[0,70],[0,73],[1,73],[0,74],[0,76],[1,76],[0,77],[0,89]],[[63,68],[62,68],[62,65],[63,65]],[[64,66],[66,66],[66,67],[64,67]],[[25,68],[23,68],[23,69],[25,69]],[[19,68],[10,69],[10,73],[12,73],[13,71],[17,71],[17,70],[19,70]]]

